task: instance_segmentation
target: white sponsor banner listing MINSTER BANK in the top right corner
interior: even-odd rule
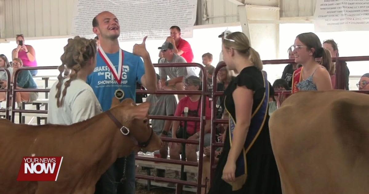
[[[369,30],[369,0],[317,0],[316,32]]]

